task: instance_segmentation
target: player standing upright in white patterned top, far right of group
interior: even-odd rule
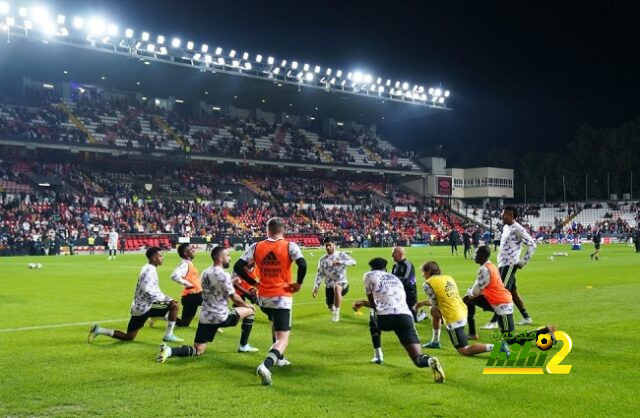
[[[504,286],[511,292],[513,301],[522,314],[522,321],[518,322],[518,325],[528,325],[532,324],[533,320],[527,313],[527,309],[524,307],[524,300],[518,293],[516,270],[522,269],[527,265],[529,260],[531,260],[533,253],[536,251],[536,243],[526,229],[516,222],[517,218],[518,211],[513,206],[505,206],[502,210],[504,227],[502,228],[502,236],[500,237],[498,268],[500,269],[500,277],[502,278]],[[522,244],[527,246],[527,252],[524,258],[520,260]],[[496,328],[498,328],[498,314],[494,314],[491,321],[482,327],[482,329]]]

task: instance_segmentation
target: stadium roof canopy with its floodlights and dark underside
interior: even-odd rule
[[[0,3],[8,5],[0,33],[10,41],[0,48],[0,53],[8,49],[2,61],[34,79],[94,82],[185,102],[202,99],[365,123],[393,120],[412,108],[448,109],[449,91],[440,87],[225,51],[125,29],[99,17],[56,18],[41,6]]]

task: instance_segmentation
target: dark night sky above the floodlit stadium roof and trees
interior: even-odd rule
[[[450,88],[453,112],[383,127],[404,147],[559,149],[581,124],[640,115],[640,2],[76,0],[64,7],[227,50]]]

